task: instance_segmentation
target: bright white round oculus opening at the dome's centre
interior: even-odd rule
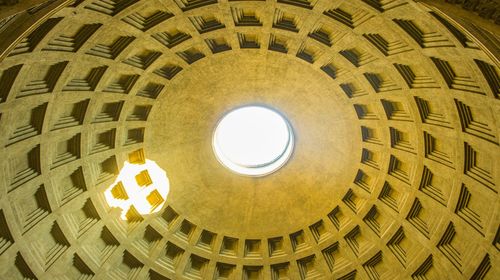
[[[242,175],[264,176],[287,162],[294,139],[290,124],[281,114],[253,105],[222,117],[212,144],[225,167]]]

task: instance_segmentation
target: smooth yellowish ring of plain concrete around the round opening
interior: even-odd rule
[[[355,111],[334,94],[330,79],[296,59],[227,54],[193,64],[189,75],[172,80],[176,94],[158,98],[148,118],[155,133],[144,140],[148,158],[178,186],[171,188],[169,205],[193,224],[249,238],[297,231],[331,211],[356,176],[361,136],[352,125]],[[242,176],[214,154],[214,129],[228,110],[244,104],[275,108],[293,128],[293,153],[277,172]],[[330,199],[317,203],[325,197]]]

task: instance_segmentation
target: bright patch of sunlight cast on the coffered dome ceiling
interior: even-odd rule
[[[131,220],[137,218],[137,214],[160,211],[169,190],[167,173],[156,162],[146,159],[144,164],[126,161],[104,196],[109,206],[122,210],[123,220]]]

